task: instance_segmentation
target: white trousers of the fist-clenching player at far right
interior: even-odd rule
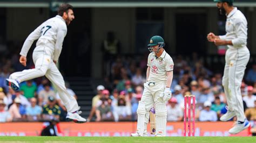
[[[227,49],[226,51],[223,87],[227,98],[228,109],[235,111],[235,115],[237,115],[237,120],[239,121],[244,121],[246,118],[240,87],[249,59],[250,52],[247,47]]]

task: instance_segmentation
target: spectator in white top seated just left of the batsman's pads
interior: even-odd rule
[[[131,108],[126,106],[125,99],[118,99],[118,106],[114,108],[114,121],[127,121],[131,120]]]

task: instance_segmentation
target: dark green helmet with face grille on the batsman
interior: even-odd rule
[[[157,51],[154,52],[152,46],[156,45],[159,45],[159,47]],[[149,46],[149,51],[151,53],[158,53],[160,51],[160,48],[163,48],[165,46],[164,39],[161,38],[159,35],[155,35],[152,38],[150,38],[150,44],[147,46]]]

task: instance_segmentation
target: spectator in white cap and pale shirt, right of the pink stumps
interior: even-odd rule
[[[200,121],[217,121],[217,113],[211,110],[212,103],[210,101],[206,101],[204,103],[205,109],[200,112],[199,120]]]

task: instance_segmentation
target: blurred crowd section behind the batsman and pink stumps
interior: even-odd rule
[[[195,95],[195,119],[218,121],[227,112],[227,102],[221,85],[224,65],[210,70],[196,54],[192,57],[184,60],[182,56],[173,56],[174,77],[170,88],[172,98],[166,103],[167,120],[183,120],[184,96]],[[106,62],[111,68],[104,73],[107,76],[103,85],[97,87],[98,93],[92,99],[89,120],[137,120],[138,101],[142,98],[143,83],[146,82],[147,56],[117,56],[116,59]],[[246,70],[241,93],[246,117],[256,120],[256,64],[250,65]]]

